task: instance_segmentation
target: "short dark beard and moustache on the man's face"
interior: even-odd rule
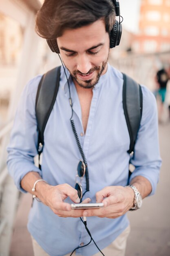
[[[97,75],[95,76],[94,79],[90,79],[90,80],[84,80],[84,81],[79,81],[79,79],[77,79],[77,74],[81,74],[81,72],[79,72],[79,70],[75,70],[73,71],[73,73],[68,70],[72,76],[72,78],[77,82],[77,84],[85,89],[91,89],[91,88],[95,88],[95,85],[98,83],[100,76],[102,75],[102,72],[104,71],[106,65],[108,62],[108,58],[106,62],[102,63],[102,67],[99,66],[95,66],[93,68],[91,68],[87,73],[92,73],[94,71],[97,71]],[[66,67],[67,68],[67,67]],[[68,68],[67,68],[68,69]]]

